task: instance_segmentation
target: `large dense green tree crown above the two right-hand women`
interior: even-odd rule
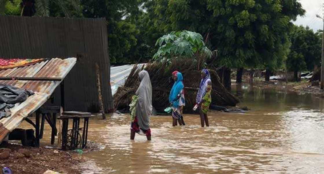
[[[156,28],[164,32],[202,33],[218,50],[219,65],[269,70],[283,65],[291,21],[305,13],[297,0],[156,0],[150,8]]]

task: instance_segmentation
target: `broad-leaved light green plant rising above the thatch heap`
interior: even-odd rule
[[[158,38],[156,46],[159,49],[153,56],[153,60],[167,60],[175,57],[193,57],[194,55],[203,55],[211,58],[212,52],[204,42],[203,37],[199,33],[183,30],[179,32],[171,32]]]

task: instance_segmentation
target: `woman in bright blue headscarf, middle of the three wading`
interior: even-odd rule
[[[172,78],[175,81],[169,95],[169,102],[172,107],[172,126],[176,126],[177,122],[179,125],[185,125],[182,116],[183,106],[185,106],[183,77],[180,72],[174,71]]]

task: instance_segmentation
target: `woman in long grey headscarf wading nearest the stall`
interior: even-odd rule
[[[138,73],[140,85],[133,96],[130,104],[131,110],[131,139],[135,138],[135,133],[146,135],[147,140],[151,140],[150,116],[152,114],[152,84],[147,71]]]

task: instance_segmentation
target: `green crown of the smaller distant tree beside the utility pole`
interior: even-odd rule
[[[295,26],[290,33],[291,52],[287,68],[290,71],[313,71],[321,61],[321,35],[309,27]]]

